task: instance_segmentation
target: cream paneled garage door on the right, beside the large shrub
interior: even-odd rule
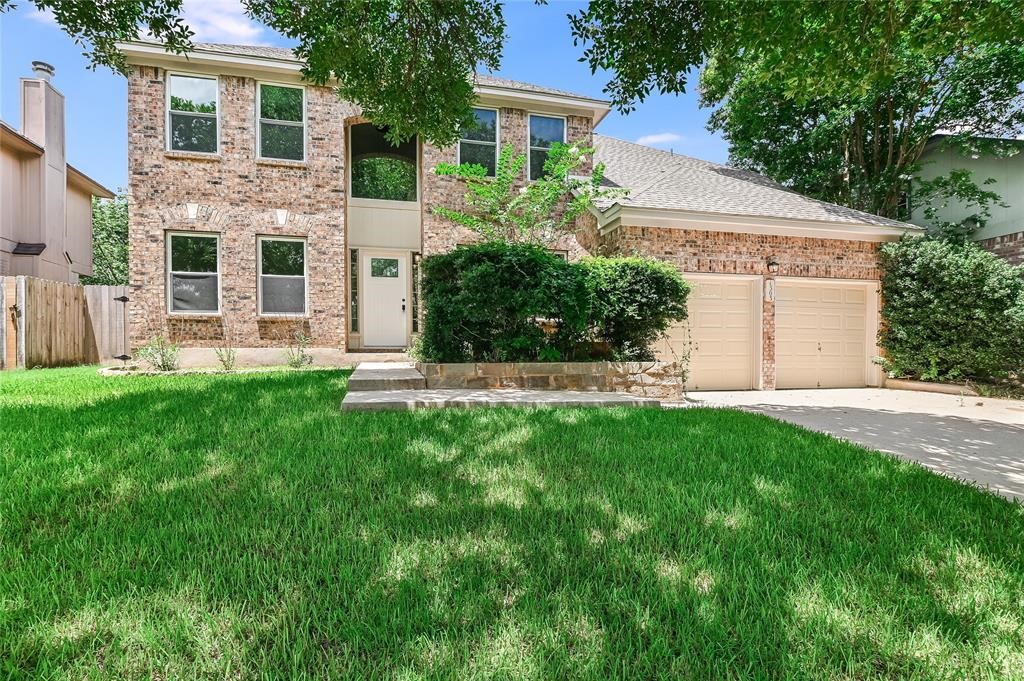
[[[776,280],[775,387],[867,385],[876,290],[873,283]]]

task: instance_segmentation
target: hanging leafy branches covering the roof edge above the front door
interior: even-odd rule
[[[473,73],[499,67],[498,0],[248,0],[256,19],[295,38],[303,75],[388,128],[446,146],[472,120]]]

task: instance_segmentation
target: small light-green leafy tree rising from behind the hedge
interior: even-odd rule
[[[590,177],[579,174],[580,167],[594,150],[580,144],[555,143],[551,146],[540,178],[523,184],[525,155],[515,154],[512,145],[502,147],[494,177],[486,177],[483,166],[472,163],[438,164],[438,175],[454,175],[467,180],[467,211],[444,206],[434,213],[461,224],[485,241],[547,246],[571,232],[575,219],[595,201],[618,196],[621,191],[601,186],[603,164],[597,164]]]

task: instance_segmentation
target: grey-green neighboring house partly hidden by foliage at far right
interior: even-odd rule
[[[1002,199],[1002,206],[991,208],[991,217],[975,233],[974,239],[982,248],[991,251],[1014,264],[1024,264],[1024,154],[1011,157],[991,155],[966,156],[942,143],[946,135],[934,135],[922,156],[922,179],[934,179],[950,170],[964,168],[971,171],[974,181],[984,189],[995,191]],[[1024,144],[1024,141],[1021,142]],[[983,184],[989,178],[992,184]],[[910,197],[911,222],[928,225],[924,208],[913,205]],[[963,205],[953,204],[939,211],[939,219],[961,222],[976,212]]]

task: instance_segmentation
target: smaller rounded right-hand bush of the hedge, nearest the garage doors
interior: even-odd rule
[[[584,258],[597,340],[623,360],[654,358],[652,346],[676,322],[686,318],[690,287],[672,265],[638,256]]]

